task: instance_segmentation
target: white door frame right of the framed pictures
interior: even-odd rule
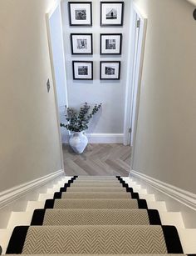
[[[140,33],[138,39],[138,52],[137,59],[135,62],[135,36],[136,36],[136,26],[135,23],[136,15],[140,18]],[[126,84],[126,100],[125,100],[125,124],[124,124],[124,144],[130,144],[130,128],[132,128],[132,163],[135,151],[135,138],[137,132],[137,120],[140,107],[140,83],[142,78],[143,61],[145,54],[145,35],[147,29],[147,18],[142,14],[135,5],[132,3],[131,16],[130,16],[130,53],[129,53],[129,63],[128,63],[128,74],[127,74],[127,84]],[[134,127],[132,127],[132,115],[135,115]],[[131,166],[132,167],[132,166]]]

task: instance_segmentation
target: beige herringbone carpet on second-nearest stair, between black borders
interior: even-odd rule
[[[44,225],[149,225],[147,210],[47,209]]]

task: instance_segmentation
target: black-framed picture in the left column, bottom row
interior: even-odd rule
[[[73,61],[72,68],[74,80],[93,79],[93,62]]]

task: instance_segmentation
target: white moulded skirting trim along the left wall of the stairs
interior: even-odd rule
[[[27,194],[30,190],[41,187],[43,184],[48,183],[52,179],[61,176],[63,173],[63,170],[59,170],[55,173],[50,173],[41,178],[37,178],[30,182],[22,183],[21,185],[2,191],[0,193],[0,208],[5,207],[7,204],[16,201],[18,198],[21,198],[22,196]]]

